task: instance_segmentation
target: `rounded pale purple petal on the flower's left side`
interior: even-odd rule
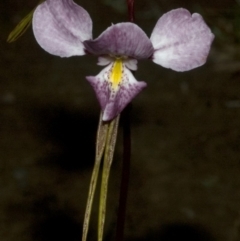
[[[39,45],[53,55],[84,55],[83,41],[92,38],[92,20],[72,0],[46,0],[33,15],[33,32]]]

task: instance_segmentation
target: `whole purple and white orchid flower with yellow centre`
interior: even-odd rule
[[[115,118],[146,87],[131,71],[137,62],[150,59],[175,71],[188,71],[206,62],[214,39],[198,13],[179,8],[157,21],[148,38],[134,23],[112,24],[92,39],[88,12],[72,0],[46,0],[33,14],[33,32],[39,45],[60,57],[92,54],[105,66],[87,76],[103,111],[102,120]]]

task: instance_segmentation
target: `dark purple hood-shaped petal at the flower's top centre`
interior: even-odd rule
[[[97,39],[84,42],[94,55],[128,56],[146,59],[152,56],[152,43],[136,24],[118,23],[107,28]]]

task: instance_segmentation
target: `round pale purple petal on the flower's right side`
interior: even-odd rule
[[[176,71],[187,71],[206,62],[214,39],[201,15],[179,8],[164,14],[151,35],[153,62]]]

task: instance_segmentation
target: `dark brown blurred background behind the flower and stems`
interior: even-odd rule
[[[61,59],[31,28],[8,34],[37,0],[0,2],[0,240],[81,240],[99,105],[85,80],[92,56]],[[124,0],[76,1],[93,35],[127,20]],[[132,163],[125,240],[240,240],[240,2],[136,0],[148,35],[165,12],[203,15],[215,34],[207,63],[177,73],[139,62],[146,88],[133,101]],[[114,240],[121,173],[119,130],[105,240]],[[96,240],[96,194],[89,240]]]

